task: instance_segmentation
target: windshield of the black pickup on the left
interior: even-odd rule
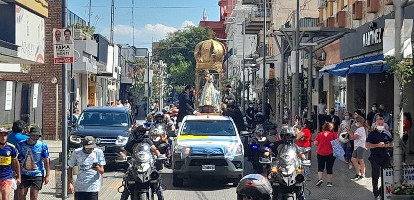
[[[127,127],[129,123],[126,113],[86,111],[78,119],[78,125]]]

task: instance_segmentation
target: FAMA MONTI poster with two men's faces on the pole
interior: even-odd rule
[[[53,61],[55,64],[73,63],[73,28],[53,29]]]

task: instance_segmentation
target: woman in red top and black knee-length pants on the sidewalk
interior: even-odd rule
[[[333,133],[333,124],[326,122],[323,125],[322,131],[316,135],[313,144],[317,146],[316,158],[317,158],[317,177],[318,181],[316,186],[319,187],[323,184],[323,171],[326,167],[327,187],[332,187],[332,168],[335,163],[335,157],[333,156],[332,145],[330,141],[338,138],[338,135]]]

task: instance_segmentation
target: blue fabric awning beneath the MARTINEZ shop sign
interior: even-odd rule
[[[346,77],[347,74],[380,74],[390,69],[388,65],[384,64],[383,59],[383,54],[358,58],[339,63],[334,68],[326,69],[323,72],[340,77]]]

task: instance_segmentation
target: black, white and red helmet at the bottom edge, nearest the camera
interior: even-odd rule
[[[243,177],[236,189],[237,200],[242,200],[243,196],[253,197],[253,200],[263,199],[272,200],[272,186],[269,181],[260,174],[249,174]]]

